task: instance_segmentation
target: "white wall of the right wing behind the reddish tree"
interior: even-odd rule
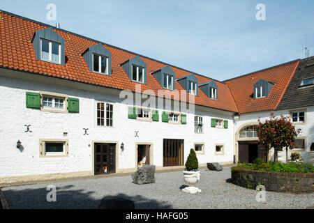
[[[306,109],[306,123],[303,125],[295,125],[296,128],[301,128],[301,133],[298,137],[306,137],[306,151],[298,151],[292,150],[292,152],[299,152],[304,159],[305,162],[310,160],[310,148],[311,144],[314,142],[314,106],[312,107],[305,107],[305,108],[298,108],[299,109]],[[280,117],[289,116],[290,111],[296,109],[286,109],[281,111],[274,111],[274,116]],[[250,114],[241,114],[239,121],[235,123],[236,132],[241,130],[241,128],[246,125],[246,123],[257,122],[257,119],[260,118],[261,121],[265,121],[269,119],[271,116],[271,112],[255,112]],[[288,153],[288,159],[290,159],[290,153]],[[274,158],[274,150],[271,150],[272,158]],[[285,162],[285,151],[278,152],[278,160]]]

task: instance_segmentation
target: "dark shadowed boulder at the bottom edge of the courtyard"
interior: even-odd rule
[[[135,203],[123,197],[108,196],[101,200],[98,209],[135,209]]]

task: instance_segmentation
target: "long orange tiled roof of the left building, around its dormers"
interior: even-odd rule
[[[141,84],[141,91],[147,93],[146,90],[152,90],[156,95],[158,95],[158,90],[166,90],[160,86],[159,82],[150,72],[160,70],[165,66],[170,66],[176,78],[184,77],[191,73],[188,70],[151,59],[147,56],[141,56],[134,52],[129,52],[126,49],[100,43],[97,40],[92,40],[91,38],[80,36],[63,29],[54,28],[54,31],[65,40],[65,66],[58,66],[57,64],[36,60],[36,54],[31,43],[33,33],[37,30],[47,28],[52,28],[52,26],[3,12],[3,20],[0,20],[0,68],[31,72],[36,75],[45,75],[68,79],[73,82],[135,92],[135,86],[138,83],[130,80],[124,68],[121,67],[121,64],[135,56],[139,56],[140,59],[147,64],[147,84]],[[82,56],[82,52],[85,52],[86,49],[98,43],[103,45],[112,54],[111,76],[91,72]],[[211,80],[204,75],[195,74],[195,77],[199,83]],[[219,102],[209,100],[207,95],[200,91],[199,95],[195,97],[195,105],[229,112],[238,112],[227,84],[223,82],[217,82],[217,84],[218,88],[221,89],[221,100]],[[175,82],[175,89],[179,92],[184,90],[178,82]],[[164,97],[169,98],[168,96]],[[173,96],[171,98],[173,98]],[[186,102],[188,101],[188,97],[185,98],[183,96],[180,100]]]

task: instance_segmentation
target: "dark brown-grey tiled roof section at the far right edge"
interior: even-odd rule
[[[314,86],[300,86],[302,80],[311,77],[314,77],[314,56],[300,61],[277,110],[313,106]]]

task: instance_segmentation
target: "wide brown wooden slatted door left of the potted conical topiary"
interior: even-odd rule
[[[163,167],[184,165],[184,140],[163,139]]]

